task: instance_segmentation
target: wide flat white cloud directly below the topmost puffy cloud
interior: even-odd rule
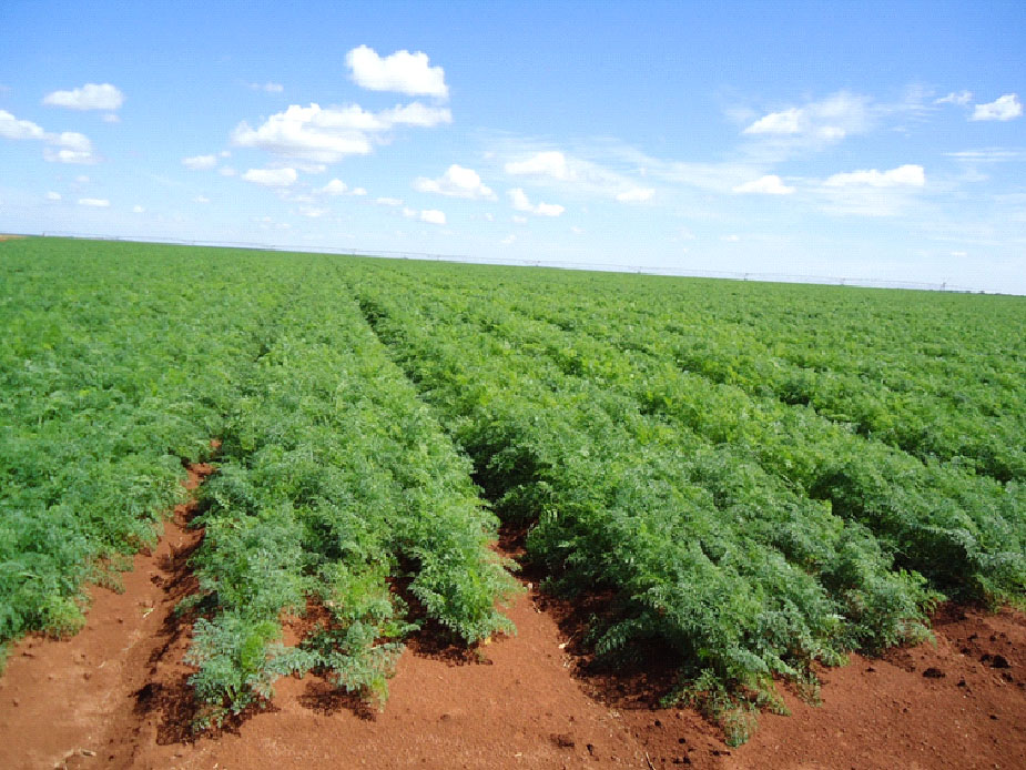
[[[358,104],[327,109],[317,103],[292,104],[256,129],[245,121],[240,123],[232,133],[232,142],[316,163],[337,163],[347,155],[369,154],[374,138],[395,125],[430,128],[451,120],[448,109],[419,102],[379,113],[368,112]]]

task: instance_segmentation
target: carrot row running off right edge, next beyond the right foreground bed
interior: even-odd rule
[[[504,292],[469,303],[463,297],[451,288],[438,294],[435,302],[445,306],[439,315],[475,317],[487,333],[530,346],[567,373],[624,393],[643,411],[729,446],[734,455],[755,458],[802,495],[829,500],[835,513],[868,526],[901,566],[927,576],[935,588],[992,602],[1023,600],[1022,485],[976,476],[957,463],[923,463],[811,408],[682,372],[672,356],[660,355],[658,335],[621,347],[596,338],[586,325],[567,332],[566,323],[551,323],[553,308],[545,302],[525,308],[518,295]],[[566,305],[561,310],[563,321],[572,316]]]

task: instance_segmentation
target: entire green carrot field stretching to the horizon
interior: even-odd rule
[[[1026,605],[1022,297],[26,239],[0,332],[0,641],[74,632],[212,459],[205,722],[511,631],[502,524],[734,740],[942,599]]]

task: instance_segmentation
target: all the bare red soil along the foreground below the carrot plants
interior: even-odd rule
[[[193,467],[191,486],[207,473]],[[649,708],[643,679],[588,673],[568,611],[535,590],[510,609],[517,636],[478,656],[410,644],[382,713],[307,676],[194,738],[190,628],[172,612],[195,589],[191,513],[176,508],[160,546],[135,557],[124,592],[93,590],[79,635],[14,646],[0,678],[0,768],[1026,767],[1023,614],[946,607],[936,645],[852,656],[822,671],[822,706],[785,693],[793,715],[762,715],[731,749],[693,711]]]

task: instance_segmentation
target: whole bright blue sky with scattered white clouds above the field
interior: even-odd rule
[[[0,232],[1026,294],[1026,3],[0,3]]]

